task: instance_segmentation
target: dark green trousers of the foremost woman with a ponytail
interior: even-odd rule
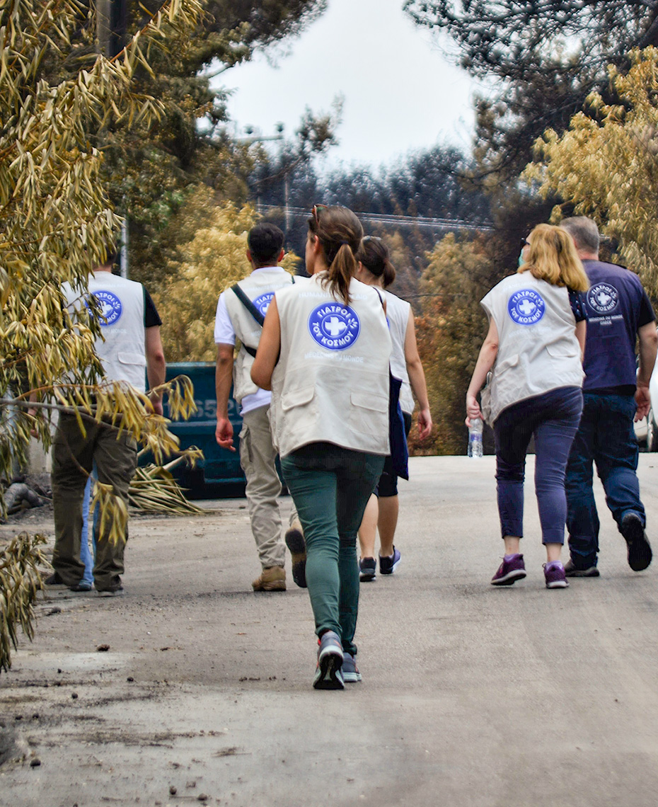
[[[306,583],[315,633],[338,633],[343,649],[352,641],[359,608],[356,531],[384,467],[384,457],[311,443],[281,459],[306,541]]]

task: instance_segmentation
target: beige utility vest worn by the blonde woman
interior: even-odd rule
[[[566,288],[523,272],[499,282],[481,304],[498,328],[490,423],[512,403],[582,386],[585,373]]]

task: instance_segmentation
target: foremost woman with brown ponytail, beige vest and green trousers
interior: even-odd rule
[[[356,215],[316,205],[308,225],[311,277],[274,296],[252,380],[272,390],[273,441],[306,541],[313,686],[342,689],[361,678],[356,531],[389,454],[391,340],[382,297],[355,278]]]

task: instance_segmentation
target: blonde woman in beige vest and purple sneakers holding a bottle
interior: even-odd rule
[[[496,439],[498,512],[505,557],[494,586],[526,576],[523,554],[523,479],[535,437],[535,493],[548,588],[568,586],[560,560],[564,544],[564,472],[582,412],[582,354],[586,315],[580,292],[589,282],[564,230],[539,224],[528,236],[525,262],[482,299],[489,332],[466,393],[466,423],[482,416],[477,393],[489,370],[490,411]]]

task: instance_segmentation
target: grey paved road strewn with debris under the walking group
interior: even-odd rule
[[[602,512],[601,578],[549,592],[529,486],[528,576],[496,589],[493,458],[411,473],[402,564],[362,587],[345,692],[310,686],[306,592],[250,591],[244,501],[135,520],[127,596],[55,592],[0,677],[5,735],[41,761],[0,767],[0,804],[656,805],[658,562],[632,572]],[[656,479],[642,455],[649,537]]]

